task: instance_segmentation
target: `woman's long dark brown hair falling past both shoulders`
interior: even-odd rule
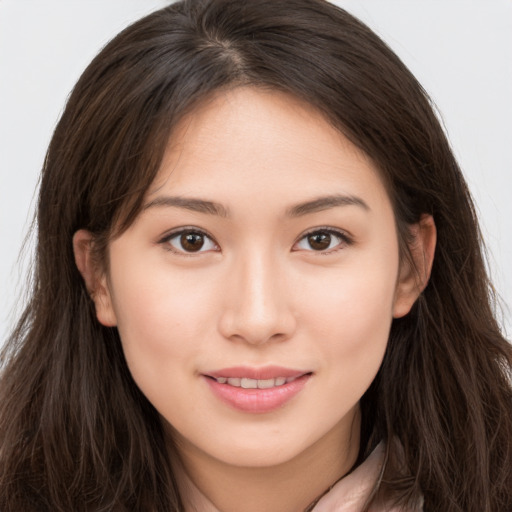
[[[137,216],[176,122],[222,88],[314,105],[373,159],[408,226],[433,215],[429,285],[393,322],[361,400],[376,495],[426,511],[512,510],[512,349],[493,313],[475,210],[428,96],[365,25],[322,0],[184,0],[113,39],[75,86],[44,163],[32,294],[3,352],[2,512],[180,511],[158,414],[99,324],[72,236],[97,258]],[[115,232],[114,226],[118,229]]]

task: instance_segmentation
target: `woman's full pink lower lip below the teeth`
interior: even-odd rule
[[[213,393],[224,403],[243,412],[271,412],[288,403],[306,385],[311,374],[303,375],[292,382],[270,389],[244,389],[229,384],[220,384],[215,379],[205,377]]]

